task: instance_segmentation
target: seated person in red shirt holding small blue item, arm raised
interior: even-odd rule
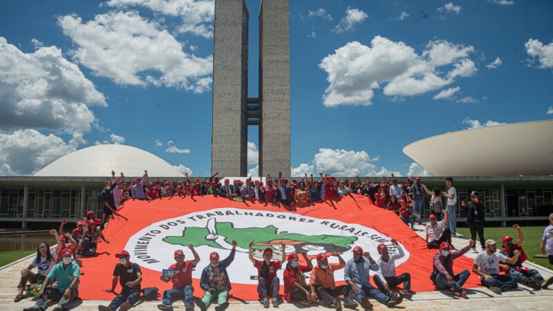
[[[169,278],[167,276],[160,276],[160,280],[168,283],[173,283],[173,288],[165,290],[163,292],[162,304],[158,305],[159,310],[173,310],[173,301],[175,299],[182,299],[185,301],[185,309],[194,309],[194,287],[192,287],[192,270],[200,262],[200,256],[194,249],[194,245],[188,245],[194,255],[194,260],[185,261],[185,252],[182,249],[177,249],[174,253],[175,261],[173,265],[169,267],[169,270],[174,271],[174,276]]]

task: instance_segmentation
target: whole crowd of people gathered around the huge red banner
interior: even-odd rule
[[[461,249],[451,245],[451,237],[456,236],[456,206],[458,196],[453,179],[446,178],[447,191],[439,188],[428,189],[420,183],[420,178],[411,180],[408,178],[404,185],[399,185],[396,178],[375,183],[373,178],[367,178],[363,182],[357,178],[357,183],[349,180],[337,180],[328,175],[320,174],[319,180],[313,176],[304,176],[299,182],[288,182],[279,173],[277,180],[267,179],[267,185],[262,180],[247,178],[243,183],[225,179],[220,182],[211,176],[209,180],[202,182],[199,178],[191,180],[186,175],[185,181],[174,183],[165,179],[156,178],[149,182],[148,173],[144,176],[131,178],[130,182],[124,182],[124,174],[120,173],[115,180],[115,171],[111,172],[112,179],[105,182],[105,188],[100,196],[104,204],[101,218],[96,218],[94,211],[88,211],[86,217],[76,223],[76,228],[65,232],[66,220],[62,220],[59,230],[50,230],[55,237],[57,247],[50,249],[48,243],[40,243],[37,247],[37,255],[32,258],[30,265],[21,270],[18,293],[14,301],[21,301],[27,296],[36,296],[37,302],[25,311],[44,311],[48,300],[58,301],[54,310],[64,311],[68,303],[78,296],[80,264],[79,257],[95,256],[97,243],[101,238],[106,243],[109,239],[102,233],[104,225],[115,217],[124,218],[118,213],[118,208],[124,200],[156,200],[173,196],[205,196],[214,195],[229,200],[259,200],[272,205],[280,205],[286,209],[305,207],[319,200],[330,200],[350,193],[368,196],[377,207],[388,209],[397,214],[404,223],[414,227],[415,221],[421,223],[423,218],[423,198],[425,194],[431,196],[429,205],[428,223],[426,225],[426,243],[429,249],[437,249],[433,256],[433,272],[431,281],[438,290],[449,290],[456,296],[467,297],[467,291],[463,285],[471,272],[480,277],[482,285],[489,290],[500,294],[505,290],[516,288],[518,283],[538,290],[547,288],[553,283],[553,278],[544,279],[538,271],[523,266],[526,260],[522,243],[523,233],[521,227],[514,225],[518,239],[514,242],[511,236],[505,236],[502,240],[502,249],[498,252],[497,243],[484,239],[483,228],[485,222],[485,207],[478,199],[478,194],[473,191],[469,202],[461,202],[461,206],[467,214],[467,223],[471,232],[469,244]],[[443,199],[447,202],[444,204]],[[445,207],[444,207],[445,206]],[[126,218],[124,218],[126,219]],[[545,229],[541,251],[547,254],[550,263],[553,263],[553,214],[550,215],[550,225]],[[476,252],[476,234],[480,238],[481,251],[474,260],[474,265],[469,270],[463,270],[456,274],[453,271],[453,261],[473,249]],[[297,302],[303,305],[315,303],[327,305],[336,310],[341,310],[342,303],[339,296],[343,297],[343,305],[346,308],[372,308],[369,298],[375,299],[386,306],[402,303],[402,299],[411,299],[415,294],[411,291],[411,275],[409,273],[396,274],[395,261],[404,256],[401,247],[397,253],[389,254],[384,243],[377,246],[379,258],[371,257],[369,252],[364,252],[362,247],[353,247],[353,258],[347,263],[341,258],[341,254],[321,253],[316,258],[316,265],[310,261],[306,252],[299,254],[285,254],[285,244],[281,245],[279,260],[273,260],[273,249],[268,247],[263,250],[263,260],[254,258],[252,254],[252,241],[249,245],[249,258],[253,267],[257,270],[257,292],[259,300],[265,308],[272,303],[277,307],[281,303],[280,279],[277,272],[284,264],[283,272],[283,298],[287,302]],[[395,239],[391,243],[397,245]],[[228,294],[231,290],[230,276],[227,267],[232,264],[236,252],[236,241],[232,241],[232,252],[227,258],[220,260],[217,252],[209,254],[209,264],[202,270],[200,289],[203,290],[203,298],[194,296],[192,285],[192,270],[200,262],[200,256],[189,245],[193,256],[192,260],[185,260],[185,252],[178,249],[174,252],[175,262],[167,270],[162,272],[160,280],[171,282],[172,288],[162,294],[162,303],[158,305],[160,310],[172,310],[172,303],[182,300],[186,310],[193,310],[198,306],[201,311],[207,310],[214,299],[217,301],[216,311],[223,311],[228,307]],[[119,263],[113,270],[111,288],[106,292],[115,292],[118,283],[121,291],[110,305],[100,305],[98,310],[129,310],[139,299],[142,292],[142,272],[140,266],[131,263],[130,254],[122,249],[115,256]],[[329,263],[328,256],[335,256],[338,263]],[[299,264],[300,261],[303,264]],[[33,272],[34,268],[37,272]],[[344,281],[346,284],[337,285],[334,279],[336,270],[344,269]],[[167,273],[166,273],[167,272]],[[306,283],[305,273],[310,272],[309,283]],[[375,286],[371,285],[371,274]],[[55,286],[51,285],[55,283]],[[397,286],[402,288],[397,290]],[[27,291],[27,293],[25,293]],[[272,299],[270,303],[270,299]]]

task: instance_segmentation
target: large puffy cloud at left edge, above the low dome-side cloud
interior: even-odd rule
[[[86,133],[95,122],[88,106],[105,97],[55,46],[23,53],[0,37],[0,130],[48,129]]]

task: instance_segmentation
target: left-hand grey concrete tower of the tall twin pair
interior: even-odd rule
[[[247,34],[243,0],[215,1],[212,173],[245,176],[247,158]]]

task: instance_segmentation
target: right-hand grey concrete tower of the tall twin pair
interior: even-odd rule
[[[290,174],[290,3],[259,10],[259,176]]]

